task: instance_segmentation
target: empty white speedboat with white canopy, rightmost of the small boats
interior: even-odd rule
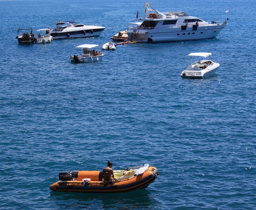
[[[188,55],[188,61],[190,63],[181,73],[183,79],[205,79],[211,77],[216,72],[216,69],[220,64],[211,60],[198,60],[194,61],[198,57],[207,58],[211,56],[211,53],[190,53]]]

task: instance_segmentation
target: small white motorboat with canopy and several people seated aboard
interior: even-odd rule
[[[78,50],[81,52],[79,54],[74,54],[70,56],[69,60],[71,63],[86,63],[92,61],[102,60],[104,54],[100,51],[90,50],[91,48],[95,48],[99,46],[98,44],[82,44],[76,46]]]

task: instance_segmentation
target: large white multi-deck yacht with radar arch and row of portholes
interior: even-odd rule
[[[155,43],[216,38],[228,24],[228,19],[206,22],[185,12],[158,12],[150,4],[144,4],[145,18],[134,19],[142,24],[127,30],[128,40]]]

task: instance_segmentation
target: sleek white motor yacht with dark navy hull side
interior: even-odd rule
[[[57,22],[55,26],[56,28],[51,31],[54,39],[100,36],[105,29],[102,26],[86,26],[75,22]]]

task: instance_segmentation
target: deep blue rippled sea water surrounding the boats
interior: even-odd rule
[[[206,21],[230,20],[216,39],[118,45],[102,61],[74,65],[74,46],[128,27],[144,2],[0,1],[1,209],[256,209],[254,2],[176,1]],[[174,1],[153,7],[175,10]],[[74,20],[106,27],[98,38],[21,46],[17,29]],[[220,67],[206,80],[180,73],[191,52]],[[124,194],[49,189],[60,171],[148,163],[160,174]]]

